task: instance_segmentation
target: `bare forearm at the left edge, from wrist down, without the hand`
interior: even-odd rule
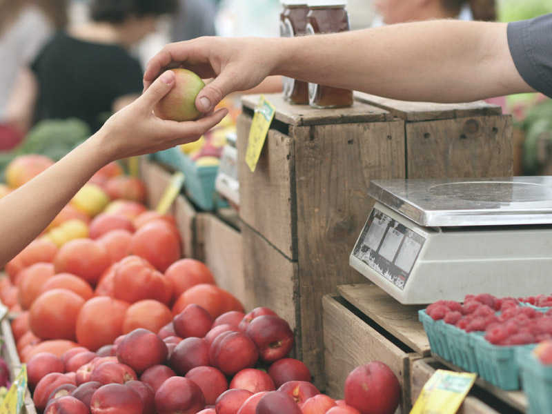
[[[0,199],[0,268],[32,242],[108,161],[95,136]]]

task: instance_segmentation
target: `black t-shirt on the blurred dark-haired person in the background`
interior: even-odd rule
[[[97,131],[112,103],[142,91],[142,68],[119,46],[90,43],[58,33],[32,70],[39,81],[35,119],[77,117]]]

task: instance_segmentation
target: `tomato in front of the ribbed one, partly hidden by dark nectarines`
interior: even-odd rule
[[[172,322],[172,313],[165,304],[146,299],[130,305],[123,320],[123,333],[129,333],[137,328],[159,332],[166,324]]]

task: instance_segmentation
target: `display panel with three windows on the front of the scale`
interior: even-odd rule
[[[404,289],[425,238],[374,208],[353,255]]]

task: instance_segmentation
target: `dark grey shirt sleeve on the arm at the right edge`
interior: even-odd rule
[[[552,13],[509,23],[508,44],[524,81],[552,98]]]

